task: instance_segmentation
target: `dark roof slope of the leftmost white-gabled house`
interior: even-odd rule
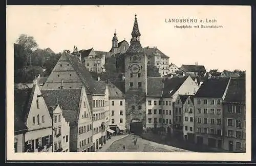
[[[25,122],[27,121],[34,91],[35,86],[14,90],[14,131],[27,129]]]

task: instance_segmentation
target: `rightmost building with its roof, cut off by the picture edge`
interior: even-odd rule
[[[223,100],[224,146],[245,153],[245,78],[231,78]]]

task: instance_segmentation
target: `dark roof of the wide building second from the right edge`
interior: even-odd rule
[[[228,84],[229,78],[215,78],[204,81],[197,91],[195,97],[222,98]]]

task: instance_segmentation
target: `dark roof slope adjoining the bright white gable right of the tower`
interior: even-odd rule
[[[164,81],[163,97],[172,97],[188,76],[173,77]]]

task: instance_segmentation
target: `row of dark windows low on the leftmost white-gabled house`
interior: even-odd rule
[[[28,140],[25,142],[25,152],[27,151],[34,152],[34,149],[38,149],[39,147],[50,145],[51,142],[52,142],[52,135],[39,137],[38,139],[35,139],[35,140]]]

